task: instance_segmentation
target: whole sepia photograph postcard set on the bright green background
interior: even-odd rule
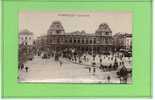
[[[131,84],[131,12],[19,12],[20,83]]]

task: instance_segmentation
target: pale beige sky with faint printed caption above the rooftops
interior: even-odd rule
[[[84,30],[95,33],[102,23],[107,23],[112,34],[132,33],[131,12],[53,12],[22,11],[19,13],[19,31],[28,29],[34,36],[46,35],[53,21],[60,21],[65,32]]]

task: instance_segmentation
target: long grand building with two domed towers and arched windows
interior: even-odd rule
[[[109,53],[112,50],[112,31],[108,24],[100,24],[95,33],[75,31],[66,33],[61,22],[55,21],[47,32],[47,46],[50,50],[74,50],[88,53]]]

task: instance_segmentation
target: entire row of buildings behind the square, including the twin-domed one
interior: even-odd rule
[[[60,21],[54,21],[44,36],[33,38],[33,33],[28,30],[20,32],[20,44],[34,45],[39,49],[61,51],[72,49],[81,52],[107,53],[119,50],[132,50],[132,35],[116,33],[107,23],[99,25],[94,33],[75,31],[67,33]]]

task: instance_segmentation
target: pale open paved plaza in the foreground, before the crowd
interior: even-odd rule
[[[55,82],[55,83],[120,83],[116,71],[103,72],[98,67],[95,73],[89,72],[89,64],[77,64],[68,59],[60,58],[62,65],[54,58],[42,59],[35,56],[27,61],[25,69],[19,70],[19,82]],[[107,77],[110,76],[110,81]],[[128,78],[131,83],[131,78]]]

